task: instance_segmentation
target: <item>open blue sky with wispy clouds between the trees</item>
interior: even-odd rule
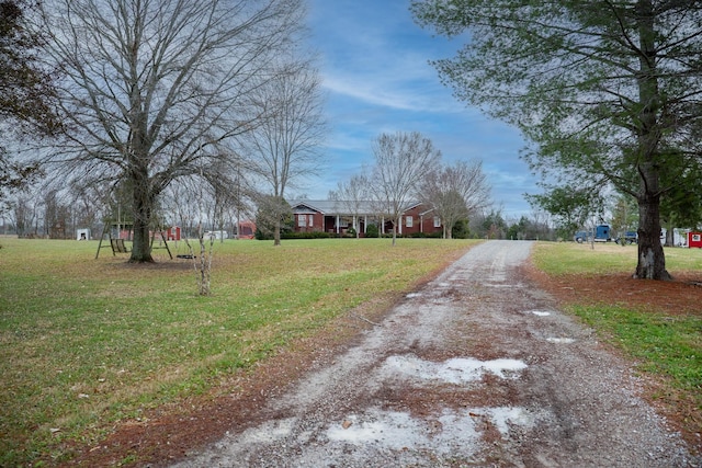
[[[371,141],[381,133],[416,130],[444,162],[482,160],[496,207],[508,219],[529,216],[522,194],[539,189],[519,159],[519,132],[456,101],[428,64],[453,57],[462,41],[416,25],[408,0],[308,1],[331,132],[326,169],[298,194],[326,199],[339,181],[373,163]]]

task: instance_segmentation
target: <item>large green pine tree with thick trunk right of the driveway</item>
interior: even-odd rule
[[[434,65],[458,99],[522,130],[546,196],[589,203],[611,186],[636,199],[635,277],[668,278],[661,208],[700,222],[702,3],[414,0],[411,10],[439,34],[469,34]]]

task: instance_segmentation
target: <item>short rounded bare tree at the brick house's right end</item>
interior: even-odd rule
[[[421,199],[434,209],[443,224],[444,239],[460,219],[490,204],[490,185],[480,161],[457,161],[428,173],[421,181]]]

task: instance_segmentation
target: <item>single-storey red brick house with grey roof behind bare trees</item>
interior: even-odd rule
[[[328,232],[342,236],[349,229],[358,229],[361,236],[367,227],[376,225],[383,233],[392,232],[393,222],[378,215],[370,202],[351,204],[339,201],[303,199],[291,203],[295,232]],[[441,219],[422,204],[411,204],[400,217],[398,235],[443,232]]]

